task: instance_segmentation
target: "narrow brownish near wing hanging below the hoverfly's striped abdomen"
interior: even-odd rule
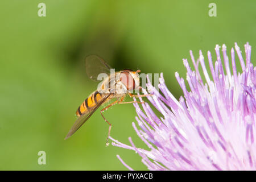
[[[84,114],[82,114],[79,118],[76,119],[76,122],[73,124],[71,130],[69,130],[65,139],[68,139],[73,135],[89,118],[90,116],[100,107],[110,96],[110,94],[104,96],[97,105],[87,110]]]

